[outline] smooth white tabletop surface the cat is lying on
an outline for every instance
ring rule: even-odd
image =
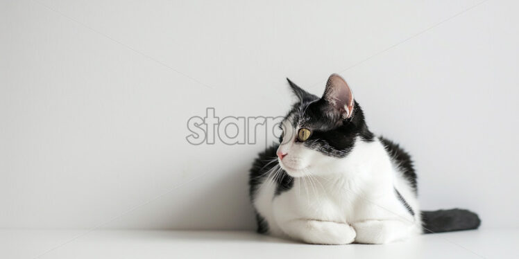
[[[3,230],[0,258],[518,258],[518,242],[518,229],[343,246],[300,244],[244,231]]]

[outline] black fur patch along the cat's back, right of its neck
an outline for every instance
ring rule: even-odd
[[[393,159],[393,163],[400,168],[402,174],[405,179],[409,182],[411,187],[414,190],[414,194],[416,195],[416,172],[414,172],[413,161],[411,160],[411,156],[405,152],[400,145],[393,143],[389,139],[385,139],[384,137],[379,137],[380,141],[386,148],[386,152],[389,154],[389,157]]]

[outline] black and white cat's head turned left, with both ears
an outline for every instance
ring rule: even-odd
[[[289,175],[326,175],[356,141],[373,140],[361,107],[341,76],[330,75],[321,98],[288,81],[298,102],[280,125],[283,133],[277,154]]]

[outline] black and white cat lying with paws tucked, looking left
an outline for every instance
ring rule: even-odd
[[[384,244],[477,229],[470,211],[420,211],[409,154],[368,130],[352,91],[330,75],[323,97],[300,89],[280,144],[250,170],[257,231],[312,244]]]

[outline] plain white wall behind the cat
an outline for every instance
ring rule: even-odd
[[[189,145],[187,120],[283,115],[285,77],[330,73],[423,208],[519,226],[519,4],[479,2],[1,0],[0,227],[253,229],[264,145]]]

